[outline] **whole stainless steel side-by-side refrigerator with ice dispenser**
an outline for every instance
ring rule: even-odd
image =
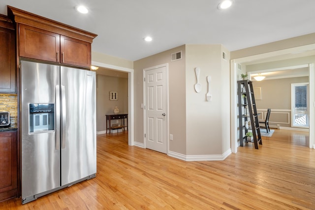
[[[95,72],[22,60],[22,204],[96,174]]]

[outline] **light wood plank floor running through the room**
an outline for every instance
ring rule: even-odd
[[[224,161],[186,162],[128,146],[127,132],[98,135],[96,178],[0,209],[315,210],[308,133],[276,130],[262,139],[259,150],[249,143]]]

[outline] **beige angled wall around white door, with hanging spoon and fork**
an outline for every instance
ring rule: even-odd
[[[227,60],[222,60],[222,51]],[[183,59],[170,61],[182,51]],[[230,149],[229,52],[221,45],[184,45],[134,62],[135,141],[143,143],[143,69],[169,64],[169,150],[183,155],[221,155]],[[194,90],[200,67],[201,92]],[[211,76],[213,101],[206,101]],[[139,125],[139,126],[137,126]]]

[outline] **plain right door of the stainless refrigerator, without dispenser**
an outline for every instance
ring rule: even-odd
[[[96,173],[95,72],[61,66],[62,184]]]

